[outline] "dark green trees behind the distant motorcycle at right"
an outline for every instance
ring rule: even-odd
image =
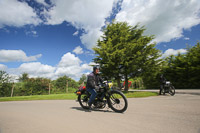
[[[187,53],[171,55],[163,59],[158,69],[142,76],[146,88],[158,88],[163,74],[178,89],[200,89],[200,43],[187,47]],[[154,70],[154,71],[153,71]]]

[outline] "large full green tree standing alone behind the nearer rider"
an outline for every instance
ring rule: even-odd
[[[99,63],[103,75],[125,77],[125,90],[128,90],[128,79],[150,71],[159,65],[160,51],[151,43],[153,36],[144,36],[144,27],[134,27],[126,22],[113,22],[104,29],[104,35],[93,48],[94,62]]]

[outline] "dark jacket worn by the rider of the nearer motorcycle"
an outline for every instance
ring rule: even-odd
[[[90,73],[87,76],[87,84],[86,84],[86,88],[92,88],[95,89],[95,86],[98,86],[99,83],[102,83],[103,80],[101,79],[99,74],[94,74],[94,72]]]

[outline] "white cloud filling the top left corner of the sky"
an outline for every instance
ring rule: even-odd
[[[0,28],[7,26],[21,27],[27,24],[38,25],[42,20],[26,2],[0,0]]]

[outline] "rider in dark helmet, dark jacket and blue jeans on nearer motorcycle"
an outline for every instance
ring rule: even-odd
[[[94,99],[97,96],[97,90],[99,89],[99,83],[102,83],[102,79],[99,76],[99,67],[94,66],[93,72],[88,75],[86,89],[88,92],[91,93],[90,100],[88,102],[89,108],[91,108],[92,103],[94,102]]]

